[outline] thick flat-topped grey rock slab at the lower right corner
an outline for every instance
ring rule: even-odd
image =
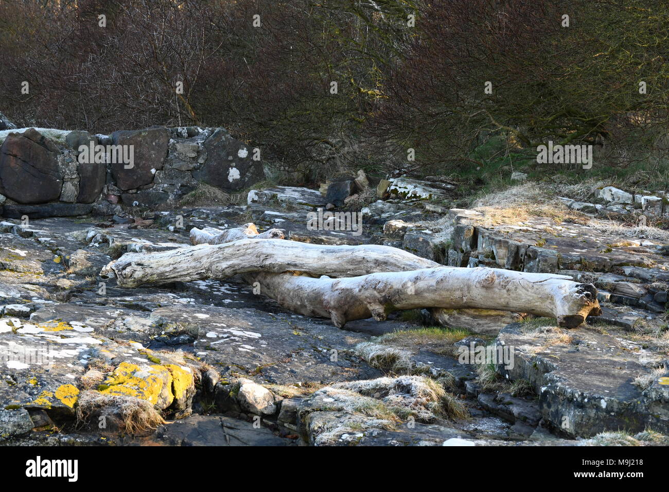
[[[609,329],[609,332],[614,331]],[[630,341],[583,326],[569,331],[571,343],[556,341],[556,333],[524,330],[521,323],[508,325],[497,343],[514,347],[514,365],[498,371],[510,380],[528,380],[539,394],[543,417],[575,436],[647,427],[666,434],[669,430],[669,385],[657,378],[648,390],[633,384],[648,374],[644,358],[658,352]],[[656,347],[657,348],[657,347]]]

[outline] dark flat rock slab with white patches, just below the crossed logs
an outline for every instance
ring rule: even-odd
[[[351,353],[365,335],[336,329],[324,320],[206,305],[159,308],[151,317],[183,330],[197,327],[195,355],[223,376],[290,385],[380,374]]]

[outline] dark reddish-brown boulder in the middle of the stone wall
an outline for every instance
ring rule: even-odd
[[[116,186],[128,190],[153,183],[156,171],[163,169],[170,139],[169,130],[150,128],[116,131],[112,133],[112,139],[114,145],[132,145],[134,151],[132,168],[126,169],[124,163],[110,164]]]

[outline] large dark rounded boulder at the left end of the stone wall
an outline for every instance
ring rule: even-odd
[[[45,203],[60,197],[63,175],[58,147],[37,130],[10,133],[0,148],[0,193],[18,203]]]

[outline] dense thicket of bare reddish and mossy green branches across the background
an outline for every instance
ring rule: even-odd
[[[623,162],[666,145],[668,37],[665,0],[0,0],[0,110],[103,133],[224,126],[304,180],[447,173],[493,137]]]

